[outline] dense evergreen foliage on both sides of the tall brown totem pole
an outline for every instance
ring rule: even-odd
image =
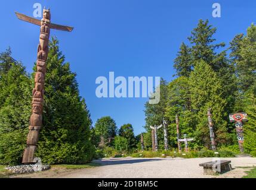
[[[34,80],[11,58],[10,50],[0,55],[0,65],[0,163],[18,164],[26,146]],[[69,63],[64,63],[58,41],[52,39],[45,77],[43,128],[36,151],[44,163],[86,163],[94,154],[90,113],[79,96],[75,77]]]

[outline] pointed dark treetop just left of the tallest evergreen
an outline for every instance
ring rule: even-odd
[[[180,51],[177,54],[177,58],[174,60],[174,68],[177,71],[176,75],[179,77],[189,77],[192,71],[192,56],[189,46],[186,46],[185,43],[181,43]]]

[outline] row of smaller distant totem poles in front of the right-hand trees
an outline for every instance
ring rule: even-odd
[[[208,126],[209,126],[209,136],[211,140],[211,149],[216,150],[216,142],[215,142],[215,136],[214,136],[214,124],[212,121],[212,115],[211,115],[211,108],[207,111],[207,118],[208,118]],[[230,122],[235,122],[236,126],[236,134],[238,138],[238,144],[240,152],[243,153],[243,122],[248,121],[247,114],[246,113],[230,113],[229,115]],[[179,120],[178,115],[175,116],[175,122],[176,122],[176,129],[177,129],[177,144],[178,144],[178,151],[181,152],[181,143],[183,142],[185,144],[185,151],[186,153],[189,151],[188,142],[193,141],[194,138],[187,138],[187,135],[184,134],[184,138],[180,138],[180,130],[179,130]],[[164,120],[163,124],[157,126],[150,126],[152,129],[152,151],[158,151],[158,129],[160,129],[162,126],[164,126],[164,145],[165,145],[165,151],[167,151],[168,148],[168,134],[167,134],[167,123]],[[141,150],[144,151],[144,137],[143,134],[141,134]]]

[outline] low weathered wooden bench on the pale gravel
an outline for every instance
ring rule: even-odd
[[[230,160],[214,160],[212,162],[201,163],[199,166],[203,166],[203,173],[215,174],[232,170],[230,163]]]

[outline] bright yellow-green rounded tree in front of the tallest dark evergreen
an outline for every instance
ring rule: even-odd
[[[229,142],[227,133],[227,113],[224,112],[226,100],[223,98],[223,87],[211,66],[204,61],[198,62],[190,77],[190,92],[193,112],[196,113],[196,141],[210,147],[207,109],[212,108],[215,140],[219,145]]]

